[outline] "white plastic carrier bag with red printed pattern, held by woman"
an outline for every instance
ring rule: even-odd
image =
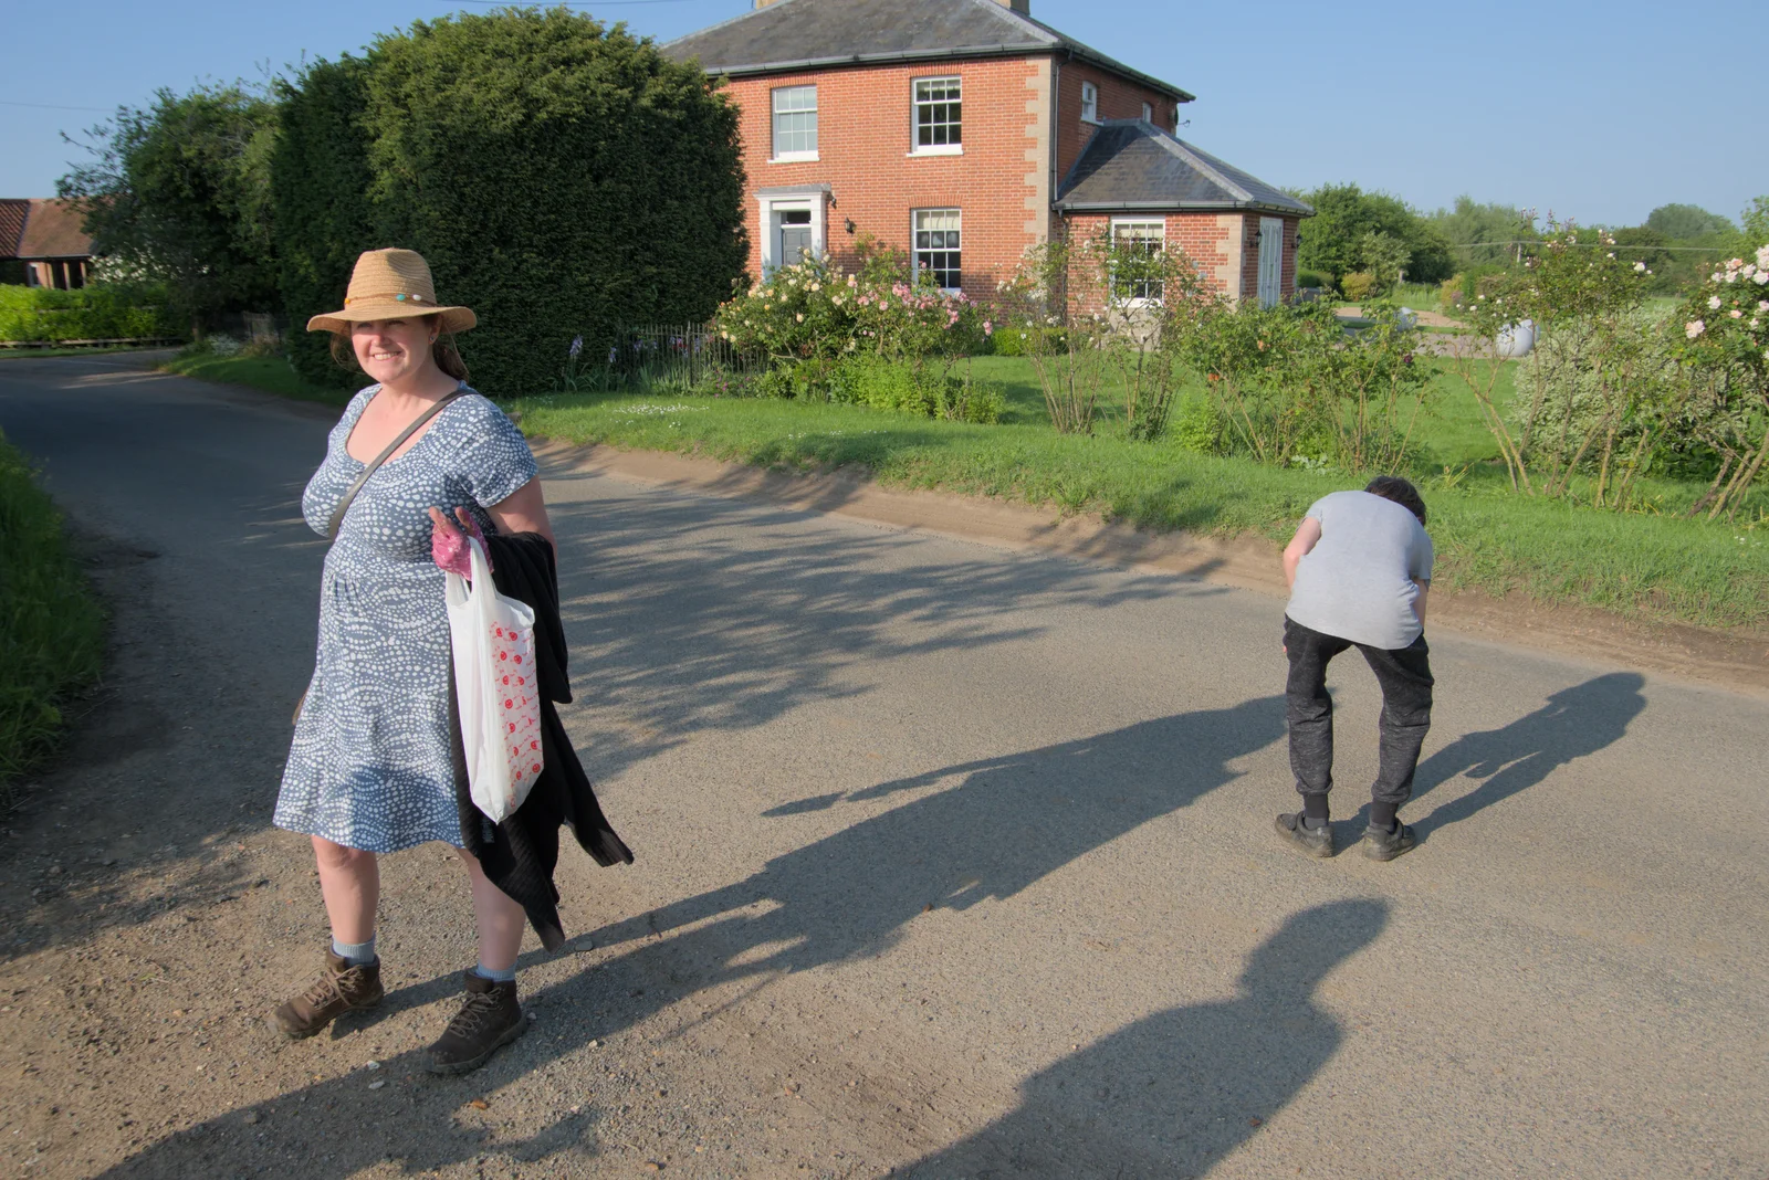
[[[534,668],[534,611],[492,583],[485,546],[472,546],[472,585],[448,574],[455,701],[474,806],[502,823],[541,774],[541,694]]]

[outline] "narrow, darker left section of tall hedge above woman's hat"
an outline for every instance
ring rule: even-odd
[[[368,132],[363,110],[373,58],[343,57],[310,65],[280,87],[283,124],[271,155],[276,253],[288,314],[288,360],[320,385],[352,374],[331,359],[331,337],[308,332],[308,318],[336,311],[350,267],[382,246],[368,200]]]

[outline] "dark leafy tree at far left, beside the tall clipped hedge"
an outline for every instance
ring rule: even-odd
[[[92,161],[58,191],[85,212],[96,254],[166,283],[195,332],[276,306],[269,152],[276,104],[241,83],[159,90],[88,132]]]

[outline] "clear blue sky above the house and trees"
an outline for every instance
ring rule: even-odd
[[[803,0],[816,4],[816,0]],[[1031,0],[1033,16],[1198,95],[1180,136],[1283,185],[1355,180],[1636,224],[1666,201],[1737,217],[1769,193],[1769,2],[1486,5]],[[64,0],[9,5],[0,196],[48,196],[78,131],[157,87],[262,78],[488,5]],[[667,41],[748,0],[573,5]],[[41,110],[19,102],[81,110]]]

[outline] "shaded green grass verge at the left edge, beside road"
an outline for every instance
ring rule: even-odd
[[[0,435],[0,813],[55,747],[62,708],[97,680],[104,611],[67,549],[62,516]]]

